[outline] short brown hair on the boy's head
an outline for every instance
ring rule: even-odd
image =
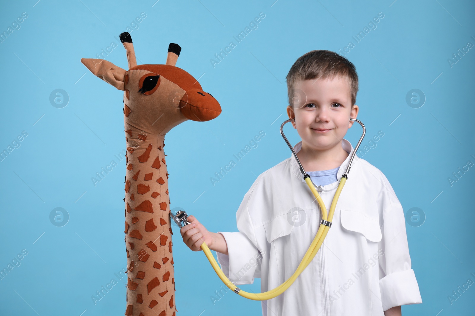
[[[297,81],[317,78],[333,79],[335,76],[348,79],[353,106],[358,92],[358,74],[353,63],[346,57],[327,50],[314,50],[300,56],[286,77],[289,105],[294,107],[292,99]]]

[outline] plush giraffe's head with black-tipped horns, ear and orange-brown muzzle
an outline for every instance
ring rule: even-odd
[[[188,119],[209,121],[221,113],[218,101],[175,66],[179,45],[169,45],[165,64],[137,65],[130,34],[124,32],[120,39],[127,51],[128,71],[104,59],[82,58],[81,62],[97,77],[124,90],[123,112],[129,126],[165,135]]]

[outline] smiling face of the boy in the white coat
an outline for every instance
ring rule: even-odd
[[[328,150],[341,144],[354,123],[350,117],[358,115],[346,78],[297,81],[293,104],[293,108],[287,107],[287,114],[295,117],[292,125],[302,138],[302,147],[310,150]]]

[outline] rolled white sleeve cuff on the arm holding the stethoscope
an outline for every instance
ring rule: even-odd
[[[235,285],[254,283],[260,253],[249,238],[240,232],[218,232],[228,245],[228,255],[216,253],[221,270]]]

